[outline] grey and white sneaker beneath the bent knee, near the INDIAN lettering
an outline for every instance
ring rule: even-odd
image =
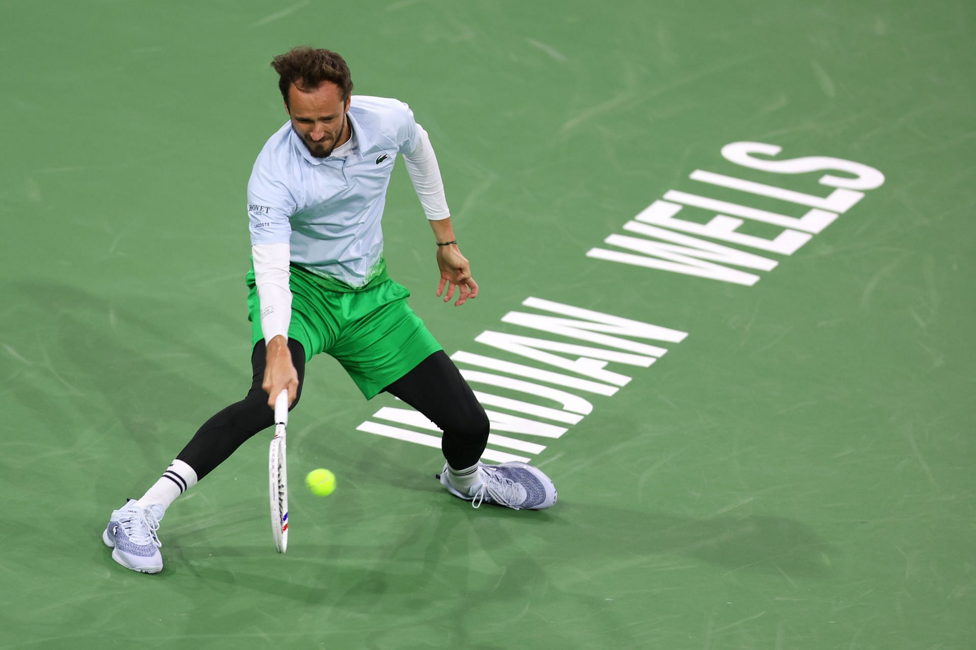
[[[471,502],[474,508],[495,504],[516,510],[541,510],[555,503],[555,486],[539,467],[516,462],[481,465],[478,475],[481,480],[470,487],[468,494],[451,485],[446,464],[437,478],[448,492]]]

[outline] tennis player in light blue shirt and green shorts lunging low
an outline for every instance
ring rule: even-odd
[[[464,305],[478,294],[458,247],[427,132],[397,100],[352,96],[346,61],[295,48],[275,57],[289,121],[258,155],[248,183],[251,256],[247,275],[254,377],[247,396],[208,420],[138,500],[112,511],[102,540],[119,564],[162,569],[157,530],[166,508],[273,424],[274,397],[291,408],[305,363],[335,357],[367,399],[386,391],[443,430],[443,487],[477,508],[549,508],[552,481],[521,463],[488,466],[484,409],[447,354],[390,279],[381,219],[398,154],[433,230],[437,296]]]

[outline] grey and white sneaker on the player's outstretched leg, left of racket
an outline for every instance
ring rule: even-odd
[[[156,531],[163,518],[162,506],[140,508],[130,499],[122,508],[112,511],[108,526],[102,532],[102,542],[112,548],[112,559],[133,571],[159,573],[163,556]]]

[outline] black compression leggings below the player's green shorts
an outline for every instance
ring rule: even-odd
[[[289,340],[288,349],[299,375],[298,397],[291,407],[294,409],[305,386],[305,349],[295,340]],[[261,387],[264,355],[264,341],[259,341],[251,353],[254,377],[247,396],[208,420],[177,456],[193,467],[198,479],[227,460],[248,438],[274,424],[274,411],[268,407],[267,393]],[[444,431],[441,449],[451,467],[471,467],[481,458],[488,442],[488,417],[443,351],[434,352],[384,390],[413,406]]]

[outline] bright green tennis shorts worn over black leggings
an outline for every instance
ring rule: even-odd
[[[254,268],[247,274],[251,345],[264,339]],[[366,399],[443,349],[407,305],[410,292],[386,273],[353,291],[292,264],[288,337],[305,347],[305,361],[326,352],[343,364]]]

